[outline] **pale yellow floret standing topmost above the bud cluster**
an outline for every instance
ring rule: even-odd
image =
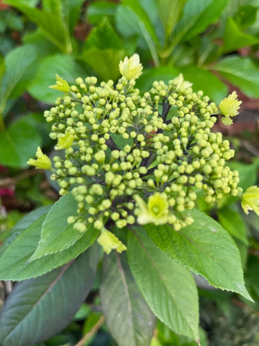
[[[126,56],[124,61],[119,63],[119,72],[127,80],[138,78],[142,74],[142,69],[143,66],[138,54],[133,54],[130,58]]]

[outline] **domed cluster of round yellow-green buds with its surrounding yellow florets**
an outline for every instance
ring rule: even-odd
[[[207,203],[242,193],[238,172],[225,166],[234,151],[221,133],[211,131],[219,114],[215,103],[202,91],[193,92],[181,74],[168,84],[155,81],[140,95],[137,54],[119,69],[117,84],[97,85],[96,77],[87,77],[69,86],[56,75],[50,88],[65,95],[44,116],[54,122],[50,137],[65,155],[54,157],[55,169],[40,148],[37,160],[28,162],[54,171],[51,179],[61,195],[72,191],[78,216],[68,217],[68,223],[79,232],[92,223],[107,253],[126,249],[107,229],[111,222],[117,228],[167,223],[179,231],[193,222],[184,211],[194,208],[198,191],[205,192]],[[238,113],[236,98],[234,92],[220,103],[224,124]]]

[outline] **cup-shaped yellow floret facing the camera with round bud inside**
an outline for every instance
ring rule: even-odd
[[[155,225],[163,225],[167,222],[169,210],[167,198],[164,194],[155,192],[153,195],[148,197],[147,204],[139,195],[135,195],[134,199],[140,209],[137,217],[137,222],[140,225],[151,223]]]

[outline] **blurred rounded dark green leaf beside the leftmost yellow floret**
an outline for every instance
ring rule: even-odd
[[[0,132],[0,163],[8,167],[24,168],[30,157],[35,157],[41,136],[37,130],[23,119],[14,122]]]

